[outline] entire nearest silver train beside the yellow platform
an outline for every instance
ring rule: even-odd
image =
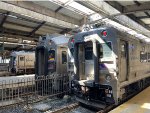
[[[150,44],[108,26],[74,37],[72,86],[79,102],[106,109],[150,85]]]

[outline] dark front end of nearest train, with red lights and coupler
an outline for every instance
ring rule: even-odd
[[[98,109],[115,104],[115,37],[113,29],[107,27],[75,35],[75,79],[72,87],[79,102]]]

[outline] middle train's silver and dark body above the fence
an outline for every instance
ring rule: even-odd
[[[43,36],[36,47],[36,76],[67,73],[68,40],[66,36]]]

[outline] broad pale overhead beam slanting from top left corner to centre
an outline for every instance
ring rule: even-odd
[[[40,6],[31,1],[0,2],[0,6],[2,6],[0,9],[6,11],[9,10],[20,15],[31,17],[40,21],[46,21],[58,26],[74,28],[75,25],[80,25],[80,21],[75,18],[56,13],[49,8]]]

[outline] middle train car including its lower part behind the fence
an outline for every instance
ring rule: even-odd
[[[43,36],[39,40],[36,47],[36,72],[35,77],[52,77],[55,80],[46,84],[46,82],[38,82],[38,91],[48,89],[53,86],[53,90],[63,92],[66,90],[63,85],[69,83],[67,74],[67,52],[69,37],[61,36]],[[43,88],[47,87],[47,88]],[[45,90],[43,92],[49,92]],[[56,92],[56,91],[55,91]]]

